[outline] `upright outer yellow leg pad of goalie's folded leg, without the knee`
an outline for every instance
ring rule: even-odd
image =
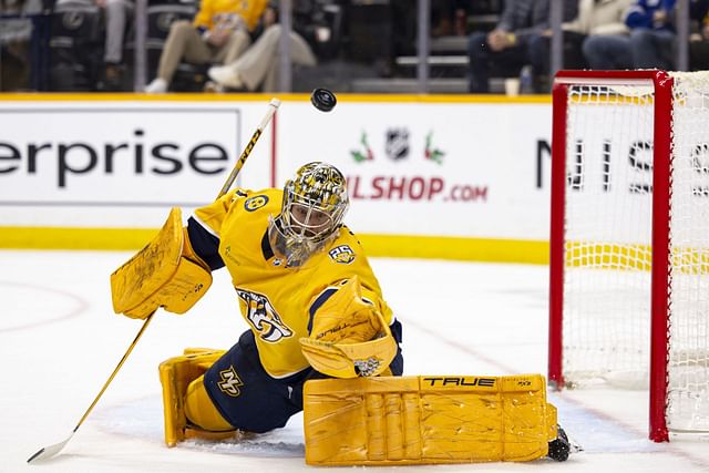
[[[188,425],[185,414],[187,388],[224,353],[224,350],[187,348],[185,354],[174,357],[160,364],[160,381],[163,385],[163,411],[165,418],[165,443],[175,446],[189,436],[201,436],[199,429]],[[196,398],[195,398],[196,399]],[[191,403],[198,402],[189,400]],[[226,421],[225,421],[226,422]],[[205,428],[207,428],[205,425]]]

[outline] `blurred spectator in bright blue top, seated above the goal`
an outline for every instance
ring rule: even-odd
[[[635,69],[672,69],[675,0],[636,0],[628,9]]]

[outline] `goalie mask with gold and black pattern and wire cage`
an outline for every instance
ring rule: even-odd
[[[284,187],[280,215],[271,218],[271,247],[286,266],[301,266],[337,235],[349,206],[345,176],[325,163],[301,166]]]

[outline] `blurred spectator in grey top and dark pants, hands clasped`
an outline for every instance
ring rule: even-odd
[[[565,21],[577,12],[577,0],[563,0]],[[514,69],[518,73],[525,64],[532,65],[535,81],[548,76],[549,0],[507,0],[501,20],[491,32],[474,32],[469,39],[469,91],[490,91],[491,65]],[[535,89],[541,89],[537,82]]]

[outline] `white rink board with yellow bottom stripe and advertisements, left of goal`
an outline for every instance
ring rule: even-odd
[[[216,197],[269,99],[0,95],[0,247],[140,247],[169,207]],[[374,254],[545,263],[547,96],[340,94],[331,113],[279,99],[237,185],[327,161]]]

